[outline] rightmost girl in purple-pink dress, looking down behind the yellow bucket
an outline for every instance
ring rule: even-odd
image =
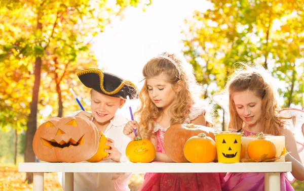
[[[304,167],[297,152],[293,133],[284,126],[279,114],[276,91],[270,76],[261,66],[255,68],[243,64],[230,77],[226,85],[229,92],[230,127],[242,129],[246,136],[263,132],[284,135],[286,150],[290,152],[285,161],[292,162],[292,175],[304,180]],[[281,190],[294,190],[281,173]],[[222,190],[264,190],[264,173],[227,173]]]

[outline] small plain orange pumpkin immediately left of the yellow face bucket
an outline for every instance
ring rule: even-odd
[[[200,133],[186,141],[183,152],[189,162],[209,163],[216,157],[216,144],[205,133]]]

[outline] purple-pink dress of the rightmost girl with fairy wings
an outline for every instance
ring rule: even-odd
[[[244,130],[246,136],[254,134]],[[264,190],[264,173],[247,172],[247,173],[227,173],[224,177],[223,191],[259,191]],[[281,173],[281,191],[291,191],[293,187]]]

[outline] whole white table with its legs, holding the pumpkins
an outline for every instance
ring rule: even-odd
[[[44,172],[65,173],[65,191],[73,190],[74,172],[264,172],[265,191],[280,190],[280,173],[291,162],[267,163],[19,163],[19,172],[33,172],[34,191],[44,189]]]

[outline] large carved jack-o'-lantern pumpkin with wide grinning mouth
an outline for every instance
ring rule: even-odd
[[[36,130],[33,151],[47,162],[81,162],[90,159],[99,144],[98,129],[83,117],[52,118]]]

